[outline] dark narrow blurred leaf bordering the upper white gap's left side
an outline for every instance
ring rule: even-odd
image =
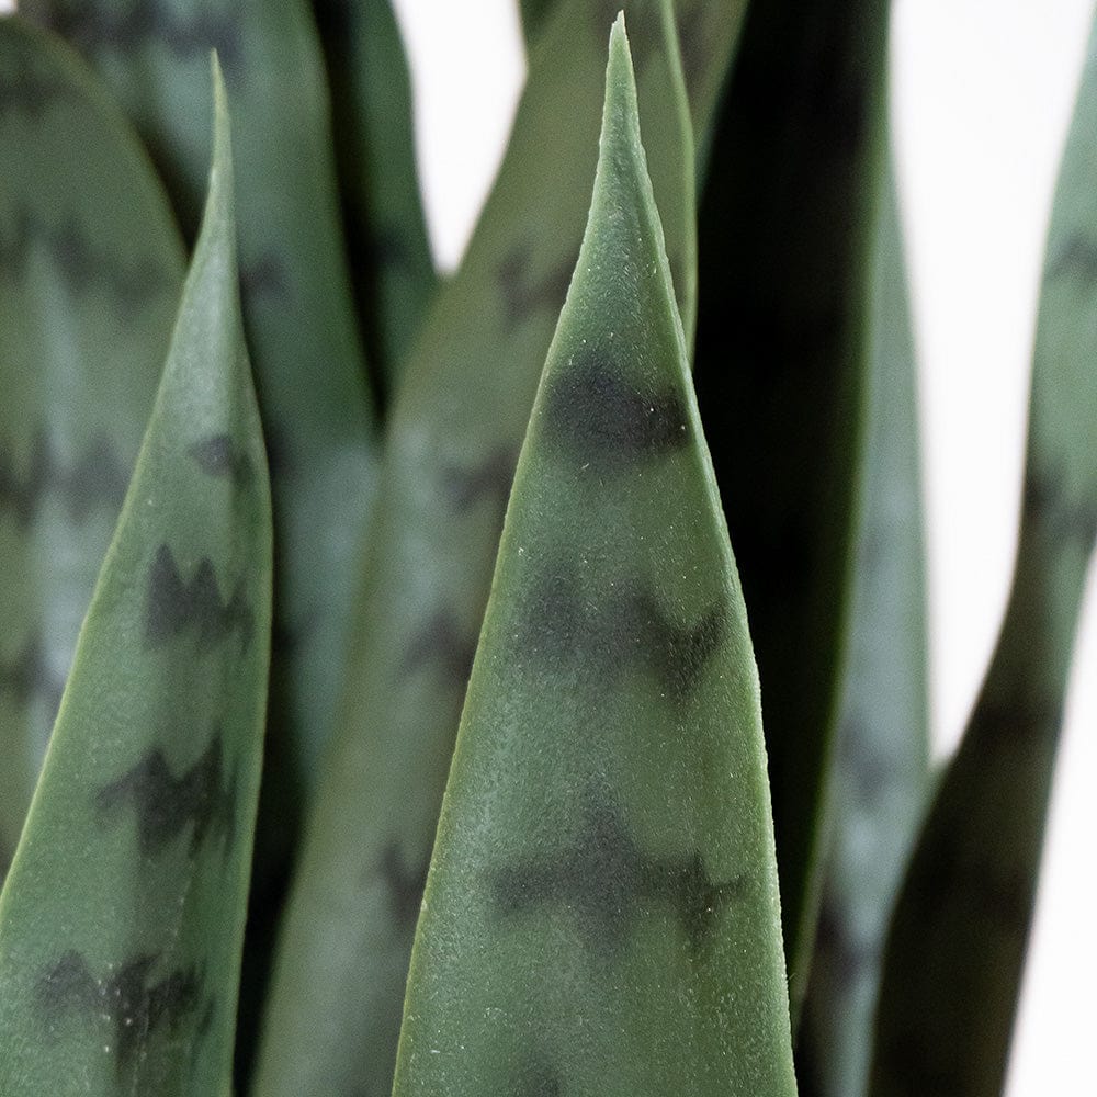
[[[411,80],[391,0],[313,0],[331,84],[343,223],[370,367],[392,392],[438,286]]]

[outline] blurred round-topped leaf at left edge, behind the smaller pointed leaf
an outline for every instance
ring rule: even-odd
[[[0,880],[163,366],[183,246],[91,73],[0,20]]]

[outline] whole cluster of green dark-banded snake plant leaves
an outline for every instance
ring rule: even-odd
[[[388,0],[0,21],[5,1097],[1000,1090],[1097,536],[1097,44],[935,780],[886,0],[522,14],[445,282]]]

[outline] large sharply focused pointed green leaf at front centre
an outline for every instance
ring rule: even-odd
[[[758,679],[619,19],[395,1097],[795,1093]]]

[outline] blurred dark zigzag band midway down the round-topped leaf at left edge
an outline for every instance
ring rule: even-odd
[[[15,516],[25,529],[45,499],[56,494],[73,522],[82,523],[92,511],[117,511],[125,498],[129,473],[105,434],[97,434],[71,465],[55,453],[44,429],[34,433],[30,465],[20,474],[12,446],[0,446],[0,516]]]

